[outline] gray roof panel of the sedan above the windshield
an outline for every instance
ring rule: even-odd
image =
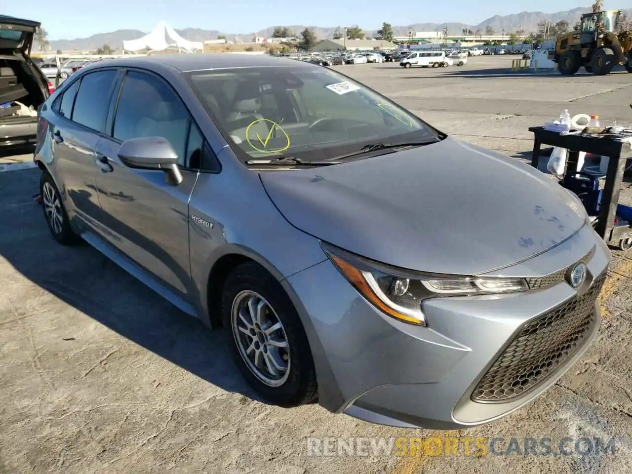
[[[180,72],[204,71],[212,69],[260,68],[270,66],[301,66],[301,61],[290,58],[279,58],[267,54],[155,54],[154,56],[135,56],[116,58],[106,61],[104,66],[128,66],[149,68],[170,66]],[[304,67],[310,67],[305,65]]]

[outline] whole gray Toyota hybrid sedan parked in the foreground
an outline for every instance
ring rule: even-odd
[[[532,401],[599,329],[611,255],[578,198],[335,71],[112,59],[39,120],[54,239],[223,325],[272,403],[467,428]]]

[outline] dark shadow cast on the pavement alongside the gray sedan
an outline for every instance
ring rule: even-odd
[[[39,176],[36,169],[0,174],[0,220],[11,222],[0,234],[0,257],[33,284],[139,346],[225,391],[265,403],[234,365],[226,331],[211,331],[92,247],[64,247],[52,239],[42,208],[31,199]],[[15,303],[19,308],[21,302]]]

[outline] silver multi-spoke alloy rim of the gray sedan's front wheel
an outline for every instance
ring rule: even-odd
[[[254,291],[241,291],[233,300],[231,326],[250,372],[267,386],[283,385],[290,370],[289,343],[270,303]]]

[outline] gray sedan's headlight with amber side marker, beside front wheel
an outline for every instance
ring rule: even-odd
[[[445,296],[492,295],[526,291],[521,278],[427,274],[399,269],[321,243],[329,259],[372,305],[387,315],[425,326],[422,302]]]

